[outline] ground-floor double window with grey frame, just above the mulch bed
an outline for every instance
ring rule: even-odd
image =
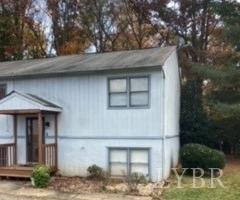
[[[149,176],[149,149],[109,148],[109,171],[112,176]]]

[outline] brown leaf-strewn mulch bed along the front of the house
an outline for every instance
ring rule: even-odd
[[[67,193],[118,193],[135,196],[160,196],[164,182],[136,185],[135,190],[123,180],[92,180],[81,177],[53,177],[48,189]]]

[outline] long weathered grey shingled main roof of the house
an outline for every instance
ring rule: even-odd
[[[163,66],[175,46],[0,62],[0,79]]]

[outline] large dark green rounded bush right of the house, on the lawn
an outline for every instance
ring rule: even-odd
[[[223,169],[226,164],[222,152],[200,144],[184,145],[180,157],[183,168],[202,168],[209,171],[209,168]]]

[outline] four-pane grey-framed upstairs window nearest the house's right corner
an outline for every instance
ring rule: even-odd
[[[149,106],[149,77],[110,78],[108,80],[110,108]]]

